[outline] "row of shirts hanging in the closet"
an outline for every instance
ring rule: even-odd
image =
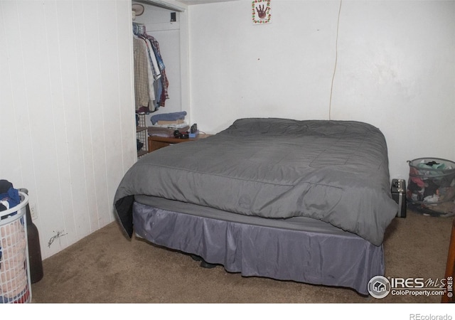
[[[133,23],[134,93],[137,112],[155,112],[164,107],[169,82],[159,43],[146,33],[145,26]]]

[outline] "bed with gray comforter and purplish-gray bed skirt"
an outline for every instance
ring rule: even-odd
[[[385,137],[354,121],[237,119],[142,157],[114,196],[130,238],[245,277],[363,295],[384,274],[397,210]]]

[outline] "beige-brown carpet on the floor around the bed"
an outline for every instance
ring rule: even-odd
[[[395,218],[385,239],[388,277],[444,277],[451,221],[419,213]],[[43,261],[34,303],[439,303],[440,297],[363,297],[351,289],[260,277],[221,266],[204,269],[188,255],[124,238],[111,223]]]

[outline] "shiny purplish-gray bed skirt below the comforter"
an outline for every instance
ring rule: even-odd
[[[343,230],[275,228],[137,202],[133,220],[140,238],[199,255],[206,262],[223,265],[228,272],[240,272],[245,277],[347,287],[368,295],[369,280],[384,274],[382,245],[373,245]]]

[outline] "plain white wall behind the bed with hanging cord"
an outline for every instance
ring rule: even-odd
[[[272,23],[251,18],[250,0],[189,7],[201,130],[240,117],[353,119],[385,134],[392,178],[407,179],[407,160],[455,161],[455,1],[273,0]]]

